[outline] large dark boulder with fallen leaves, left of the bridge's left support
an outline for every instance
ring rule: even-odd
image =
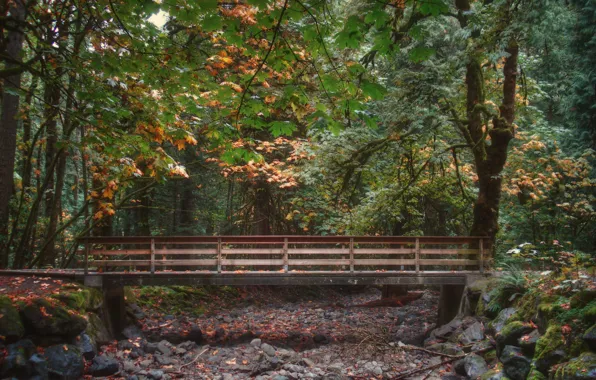
[[[61,306],[52,306],[47,300],[37,298],[21,310],[25,325],[41,336],[58,335],[74,338],[87,327],[87,320],[71,314]]]

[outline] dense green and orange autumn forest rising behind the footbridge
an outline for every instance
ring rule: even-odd
[[[72,266],[88,235],[596,250],[593,0],[2,0],[0,13],[0,267]]]

